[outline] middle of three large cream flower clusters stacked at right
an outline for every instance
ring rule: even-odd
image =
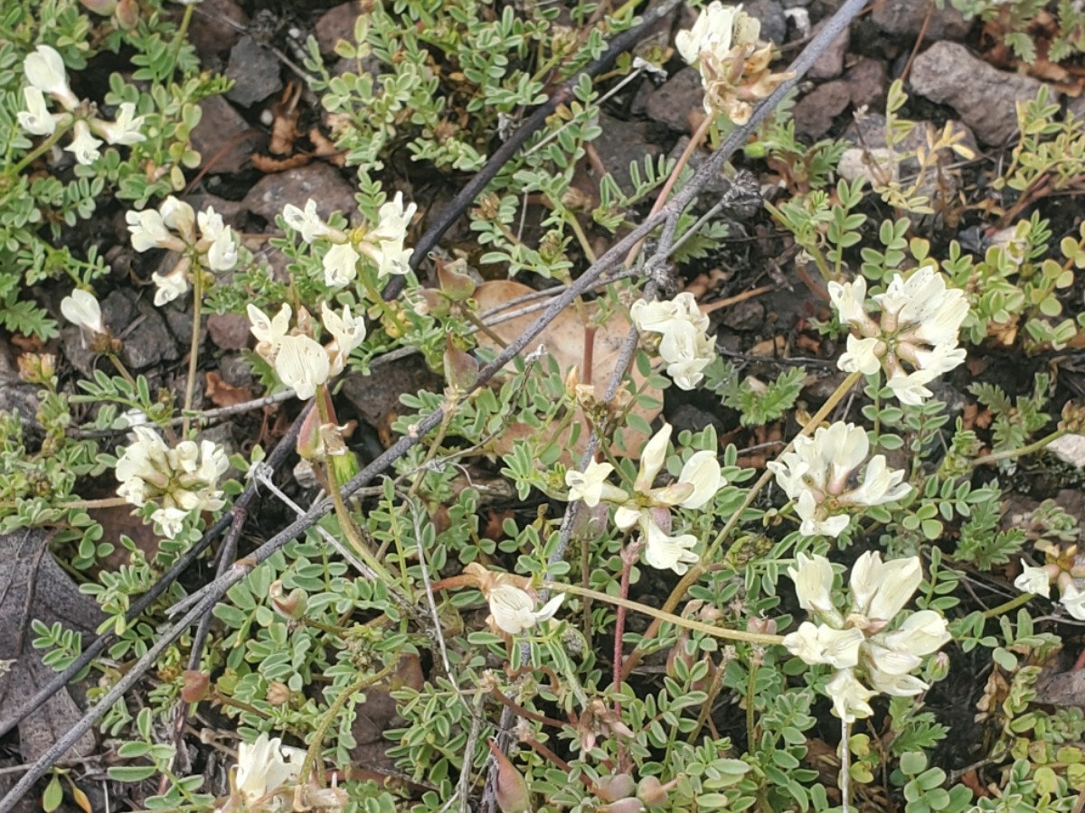
[[[860,482],[851,485],[852,474],[869,451],[865,429],[838,421],[819,427],[813,438],[795,438],[794,451],[768,464],[780,488],[795,501],[803,520],[800,533],[839,537],[856,507],[882,505],[908,494],[911,486],[903,481],[905,473],[891,470],[882,454],[870,459]]]

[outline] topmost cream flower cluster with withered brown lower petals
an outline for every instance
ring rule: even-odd
[[[773,47],[757,41],[761,23],[741,5],[712,2],[693,27],[678,31],[675,47],[701,72],[704,109],[710,116],[726,113],[737,125],[750,120],[753,102],[764,99],[791,74],[768,69]]]

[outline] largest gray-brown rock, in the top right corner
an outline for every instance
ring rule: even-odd
[[[1017,103],[1035,96],[1039,86],[1030,76],[992,67],[955,42],[935,42],[911,68],[912,90],[948,104],[985,144],[1004,144],[1013,137]],[[1051,89],[1051,98],[1058,96]]]

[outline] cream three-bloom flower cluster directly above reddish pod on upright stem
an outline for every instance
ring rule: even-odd
[[[301,325],[308,325],[309,314],[298,314],[299,327],[291,331],[289,305],[282,306],[273,319],[257,308],[248,306],[248,321],[256,337],[256,352],[271,364],[279,379],[293,389],[302,400],[312,398],[317,387],[343,372],[347,357],[366,339],[366,322],[350,315],[348,307],[342,315],[321,304],[321,321],[331,334],[331,340],[320,345]]]

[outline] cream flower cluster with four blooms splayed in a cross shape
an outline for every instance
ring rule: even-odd
[[[637,526],[644,544],[644,560],[660,570],[685,573],[690,565],[700,560],[692,551],[697,537],[671,532],[671,508],[701,508],[726,485],[719,470],[719,461],[710,451],[695,452],[682,466],[678,480],[669,486],[652,488],[655,476],[663,468],[671,440],[671,426],[664,424],[644,446],[640,455],[640,469],[633,483],[633,494],[611,485],[607,478],[614,470],[610,463],[592,461],[584,472],[565,473],[569,499],[582,500],[588,507],[600,501],[616,506],[614,525],[622,530]]]

